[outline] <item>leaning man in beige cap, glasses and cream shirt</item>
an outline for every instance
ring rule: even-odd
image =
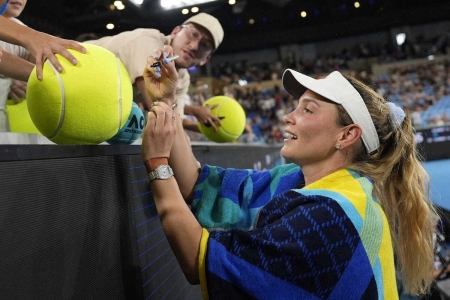
[[[199,13],[182,25],[176,26],[170,35],[164,35],[157,29],[138,28],[114,36],[86,41],[86,43],[102,46],[120,58],[134,86],[134,101],[144,110],[150,109],[152,101],[145,88],[142,66],[149,56],[154,55],[154,49],[171,45],[174,55],[180,56],[175,60],[178,70],[178,111],[182,116],[194,115],[199,122],[210,124],[217,130],[216,124],[220,125],[220,119],[211,114],[213,106],[185,106],[183,99],[190,85],[187,69],[204,65],[219,47],[223,36],[222,25],[216,18],[206,13]],[[185,129],[199,132],[196,121],[184,117],[183,120]]]

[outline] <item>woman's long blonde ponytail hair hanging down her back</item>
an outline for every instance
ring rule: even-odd
[[[374,196],[389,222],[397,270],[404,290],[426,293],[433,281],[433,214],[429,178],[417,151],[411,118],[406,115],[396,129],[386,100],[362,82],[345,76],[363,98],[380,139],[378,152],[369,156],[361,150],[349,168],[373,179]],[[338,105],[339,123],[353,123]]]

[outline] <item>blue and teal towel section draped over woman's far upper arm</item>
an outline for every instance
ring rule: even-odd
[[[205,165],[195,186],[191,209],[208,230],[251,229],[261,207],[302,179],[295,164],[266,171]]]

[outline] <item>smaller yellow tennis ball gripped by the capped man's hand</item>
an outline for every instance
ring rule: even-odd
[[[203,106],[218,104],[211,109],[211,114],[218,117],[222,126],[214,131],[211,125],[198,123],[200,132],[210,141],[216,143],[233,142],[244,132],[246,116],[242,106],[233,98],[227,96],[216,96],[208,99]]]

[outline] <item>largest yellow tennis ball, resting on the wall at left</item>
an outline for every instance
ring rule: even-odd
[[[130,115],[133,89],[122,62],[105,48],[83,46],[86,54],[69,49],[77,65],[56,55],[62,73],[47,60],[42,81],[36,68],[28,79],[31,119],[56,144],[99,144],[114,136]]]

